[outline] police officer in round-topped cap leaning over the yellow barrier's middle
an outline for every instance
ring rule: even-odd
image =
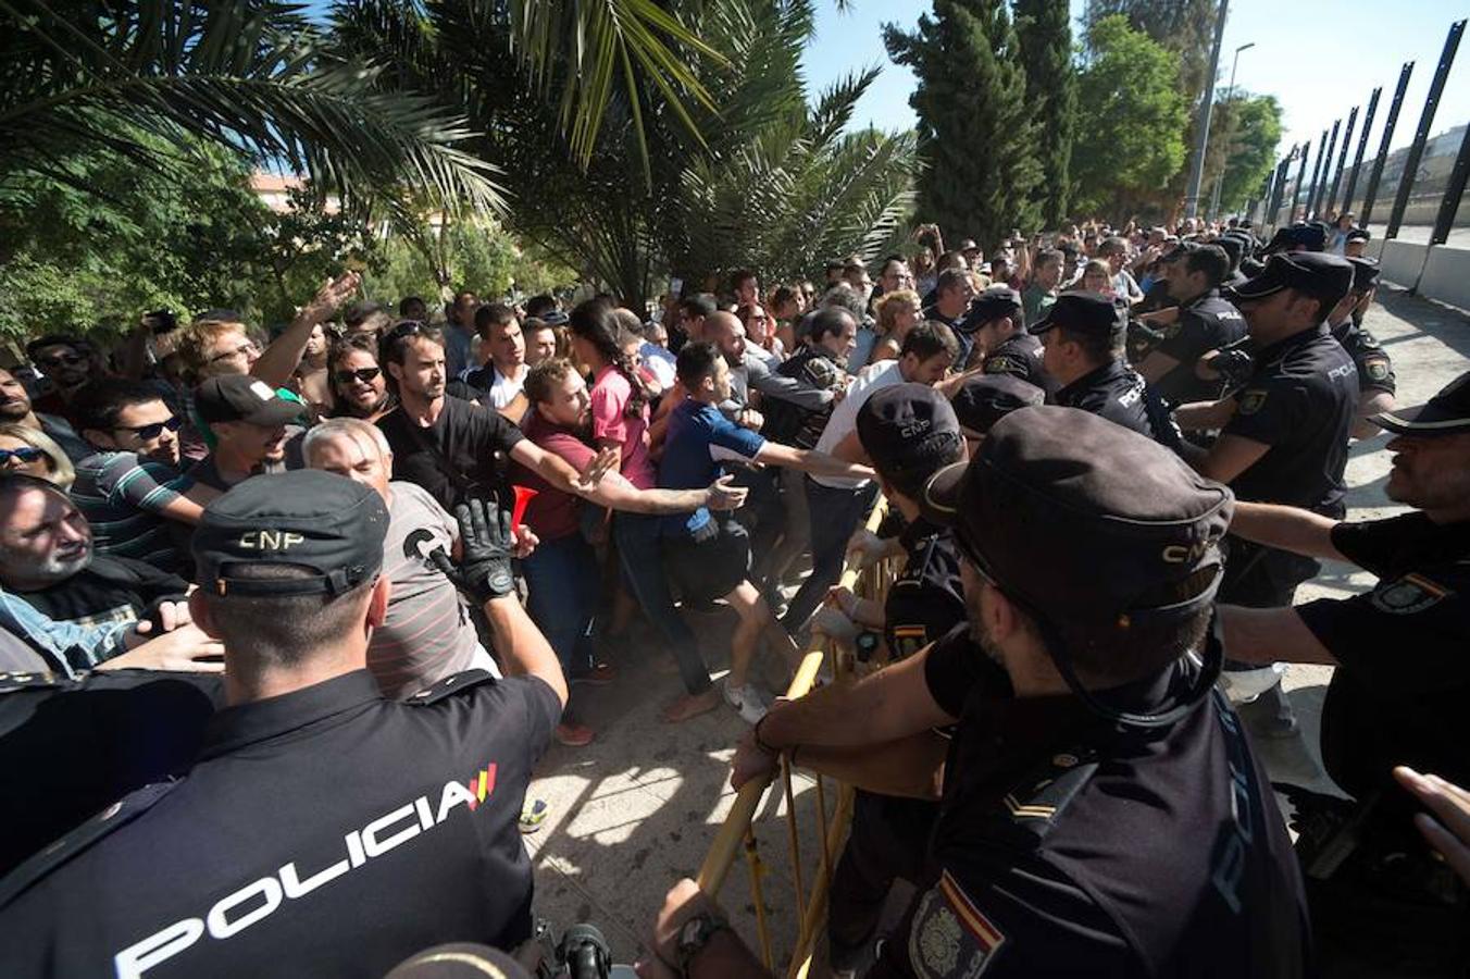
[[[833,588],[835,609],[823,612],[841,610],[854,628],[867,629],[856,635],[858,659],[870,659],[875,631],[881,631],[888,661],[898,661],[964,622],[954,532],[932,523],[919,506],[931,476],[964,459],[964,441],[950,403],[926,384],[898,384],[873,394],[858,412],[857,435],[883,494],[903,516],[898,544],[904,567],[882,604]],[[756,738],[759,732],[757,725]],[[938,761],[944,741],[935,734],[931,742]],[[882,789],[882,782],[875,788]],[[833,969],[861,964],[861,950],[878,926],[894,879],[922,878],[925,844],[936,816],[932,798],[857,791],[847,848],[832,878],[828,944]]]

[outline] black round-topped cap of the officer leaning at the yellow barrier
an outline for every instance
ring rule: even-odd
[[[875,391],[857,412],[857,440],[888,478],[926,479],[963,444],[950,400],[928,384],[894,384]]]

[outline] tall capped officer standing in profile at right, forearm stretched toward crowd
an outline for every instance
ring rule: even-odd
[[[1352,266],[1332,254],[1273,254],[1261,275],[1235,290],[1254,347],[1247,384],[1222,401],[1175,413],[1185,429],[1220,428],[1208,448],[1183,447],[1195,467],[1252,503],[1285,503],[1341,519],[1348,432],[1358,403],[1352,359],[1327,331],[1327,315],[1352,285]],[[1289,606],[1320,564],[1236,541],[1220,600],[1252,609]],[[1297,729],[1274,669],[1227,666],[1230,694],[1260,700],[1250,714],[1269,735]]]

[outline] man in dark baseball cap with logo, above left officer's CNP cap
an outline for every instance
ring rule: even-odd
[[[290,425],[301,406],[265,381],[247,373],[210,378],[194,392],[194,407],[219,440],[213,454],[190,467],[194,482],[225,492],[254,475],[301,467],[301,429]]]

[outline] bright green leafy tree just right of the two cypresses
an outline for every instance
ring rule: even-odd
[[[1075,210],[1161,207],[1185,163],[1185,128],[1179,57],[1123,16],[1094,22],[1078,82]]]

